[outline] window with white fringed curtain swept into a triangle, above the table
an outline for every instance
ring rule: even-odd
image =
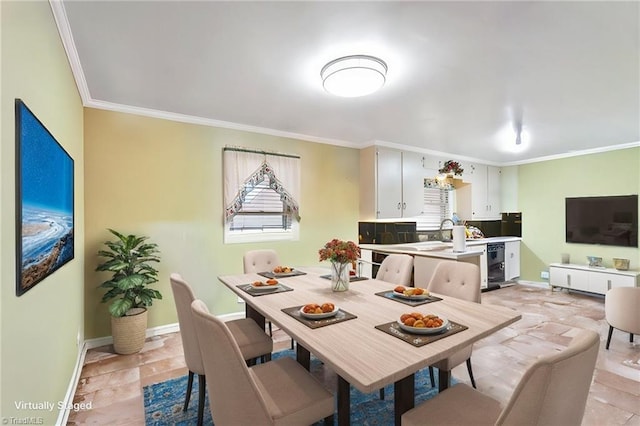
[[[225,243],[297,240],[300,157],[226,147]]]

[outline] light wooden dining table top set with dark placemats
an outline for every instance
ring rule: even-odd
[[[265,281],[263,276],[240,274],[218,279],[252,309],[277,324],[326,366],[365,393],[414,374],[521,318],[518,312],[508,308],[438,294],[434,295],[441,297],[441,301],[409,306],[376,295],[393,290],[395,285],[375,279],[352,282],[349,290],[333,292],[330,280],[320,277],[322,269],[300,270],[306,274],[278,279],[292,291],[259,296],[248,294],[238,286]],[[283,312],[294,306],[325,302],[335,304],[356,318],[312,329]],[[410,312],[435,314],[468,328],[420,347],[375,328],[397,321],[402,314]]]

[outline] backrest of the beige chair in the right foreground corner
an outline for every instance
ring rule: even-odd
[[[580,425],[598,357],[600,336],[580,330],[569,347],[531,365],[497,425]]]

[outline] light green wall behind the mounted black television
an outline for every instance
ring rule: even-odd
[[[614,257],[640,267],[638,248],[567,244],[565,198],[629,195],[640,192],[640,148],[582,155],[519,166],[518,204],[522,210],[521,278],[542,281],[540,272],[569,253],[571,263],[587,264],[600,256],[612,267]]]

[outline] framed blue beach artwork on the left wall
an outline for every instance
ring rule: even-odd
[[[20,99],[16,115],[16,295],[74,257],[73,158]]]

